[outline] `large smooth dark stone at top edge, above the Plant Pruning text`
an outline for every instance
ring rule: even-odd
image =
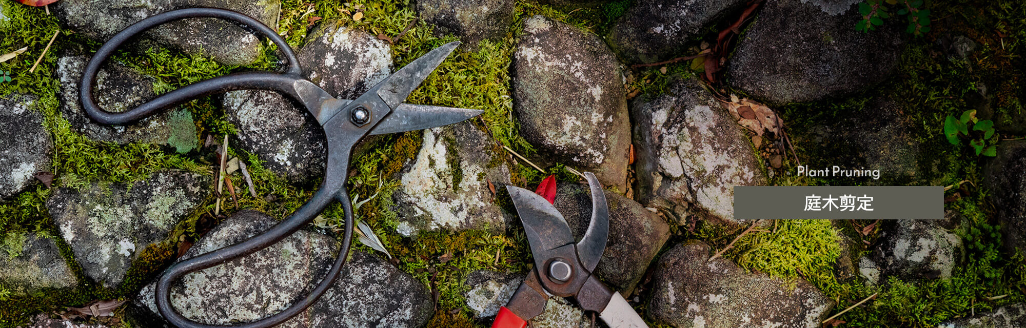
[[[739,39],[727,81],[779,106],[849,95],[886,79],[902,49],[904,32],[894,23],[900,19],[857,31],[862,16],[855,6],[832,14],[845,2],[853,1],[766,1]]]

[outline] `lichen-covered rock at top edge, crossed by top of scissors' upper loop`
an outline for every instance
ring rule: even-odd
[[[50,9],[69,29],[105,42],[121,30],[155,14],[186,7],[226,8],[242,12],[276,27],[281,4],[277,0],[149,0],[135,2],[70,0]],[[241,28],[218,18],[171,22],[147,32],[146,44],[159,44],[213,57],[226,65],[248,65],[256,60],[261,41]]]

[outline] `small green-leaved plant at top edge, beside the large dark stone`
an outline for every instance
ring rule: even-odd
[[[883,25],[883,19],[892,16],[887,12],[893,9],[892,6],[898,7],[897,14],[908,18],[906,32],[915,36],[930,32],[930,9],[924,8],[922,0],[865,0],[859,3],[862,20],[855,25],[855,29],[863,32],[876,30]]]

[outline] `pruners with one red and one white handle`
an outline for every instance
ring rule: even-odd
[[[506,187],[523,222],[535,269],[499,309],[491,328],[523,328],[545,311],[550,295],[573,297],[581,309],[598,313],[610,328],[648,327],[620,292],[592,274],[609,236],[609,208],[595,174],[584,176],[591,188],[591,223],[576,244],[566,219],[552,203],[528,190]]]

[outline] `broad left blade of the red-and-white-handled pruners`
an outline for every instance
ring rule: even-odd
[[[506,190],[510,192],[513,205],[520,214],[532,254],[538,256],[550,249],[574,243],[574,234],[566,224],[566,219],[549,201],[519,187],[507,186]]]

